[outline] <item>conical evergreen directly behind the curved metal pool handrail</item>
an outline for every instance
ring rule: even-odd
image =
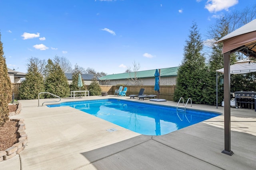
[[[61,98],[65,98],[70,95],[68,80],[57,61],[53,63],[52,60],[48,60],[45,75],[44,84],[46,92],[60,96]],[[46,95],[46,97],[52,98],[51,95]]]

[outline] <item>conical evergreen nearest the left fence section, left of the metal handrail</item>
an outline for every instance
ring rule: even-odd
[[[45,92],[44,79],[42,74],[38,72],[37,64],[33,60],[30,60],[26,79],[22,81],[20,86],[20,98],[36,99],[40,92]]]

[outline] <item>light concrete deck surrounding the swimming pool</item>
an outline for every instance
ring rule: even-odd
[[[130,97],[90,96],[61,102]],[[20,100],[28,143],[0,162],[0,170],[162,170],[256,169],[256,112],[231,107],[232,156],[223,154],[224,115],[162,136],[140,135],[71,107],[46,107],[52,99]],[[138,99],[134,99],[138,101]],[[176,102],[140,102],[176,106]],[[190,108],[190,107],[188,107]],[[192,109],[224,113],[223,107],[193,104]],[[107,129],[117,131],[109,132]]]

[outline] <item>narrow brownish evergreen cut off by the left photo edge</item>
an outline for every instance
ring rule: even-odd
[[[12,99],[11,80],[8,76],[0,33],[0,126],[9,119],[8,104]]]

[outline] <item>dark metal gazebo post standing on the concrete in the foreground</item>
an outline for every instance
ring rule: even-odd
[[[224,154],[232,155],[230,136],[230,51],[224,53]]]

